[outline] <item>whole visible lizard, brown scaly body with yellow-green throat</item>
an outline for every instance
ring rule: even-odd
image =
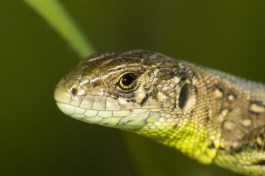
[[[59,81],[59,109],[133,131],[202,163],[265,175],[265,86],[151,51],[89,56]]]

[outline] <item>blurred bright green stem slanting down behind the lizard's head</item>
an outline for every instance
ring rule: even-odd
[[[74,20],[68,15],[61,3],[57,0],[24,0],[31,8],[46,20],[50,26],[84,58],[95,52],[92,45],[87,42],[83,33],[78,29]]]

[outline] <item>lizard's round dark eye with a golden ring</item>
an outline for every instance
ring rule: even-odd
[[[123,90],[131,90],[137,85],[137,76],[132,73],[123,74],[119,79],[119,87]]]

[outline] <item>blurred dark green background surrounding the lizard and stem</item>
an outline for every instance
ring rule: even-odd
[[[63,0],[97,51],[149,49],[265,82],[265,1]],[[23,1],[0,1],[0,175],[235,175],[63,115],[77,53]]]

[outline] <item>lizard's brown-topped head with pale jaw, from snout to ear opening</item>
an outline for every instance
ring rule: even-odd
[[[177,61],[150,51],[94,54],[59,81],[54,98],[73,118],[144,134],[172,129],[189,111],[187,75]]]

